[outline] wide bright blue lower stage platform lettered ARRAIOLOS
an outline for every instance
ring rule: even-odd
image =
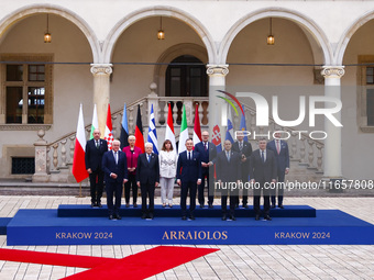
[[[166,210],[165,210],[166,211]],[[206,210],[209,212],[208,210]],[[316,217],[58,217],[57,210],[20,210],[8,224],[8,246],[15,245],[373,245],[374,225],[337,210]]]

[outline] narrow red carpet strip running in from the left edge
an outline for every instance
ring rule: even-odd
[[[68,254],[43,253],[32,250],[1,249],[0,259],[9,261],[31,262],[40,265],[92,268],[113,258],[100,258],[90,256],[78,256]]]

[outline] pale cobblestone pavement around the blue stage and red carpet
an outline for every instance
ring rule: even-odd
[[[1,195],[0,216],[12,217],[19,209],[56,209],[59,204],[89,204],[89,198]],[[156,200],[160,204],[160,199]],[[178,199],[175,200],[178,203]],[[215,204],[220,201],[216,200]],[[285,205],[307,204],[339,209],[374,223],[374,198],[286,198]],[[1,248],[123,258],[151,245],[113,246],[7,246]],[[208,246],[220,250],[150,279],[374,279],[374,246],[260,245]],[[59,279],[85,269],[0,261],[0,279]]]

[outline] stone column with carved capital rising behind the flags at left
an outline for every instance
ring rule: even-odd
[[[94,75],[94,104],[97,105],[99,128],[103,137],[107,122],[108,104],[110,102],[111,64],[91,64]]]

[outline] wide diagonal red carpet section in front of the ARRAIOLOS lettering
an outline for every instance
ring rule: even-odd
[[[64,279],[145,279],[217,250],[219,249],[158,246]]]

